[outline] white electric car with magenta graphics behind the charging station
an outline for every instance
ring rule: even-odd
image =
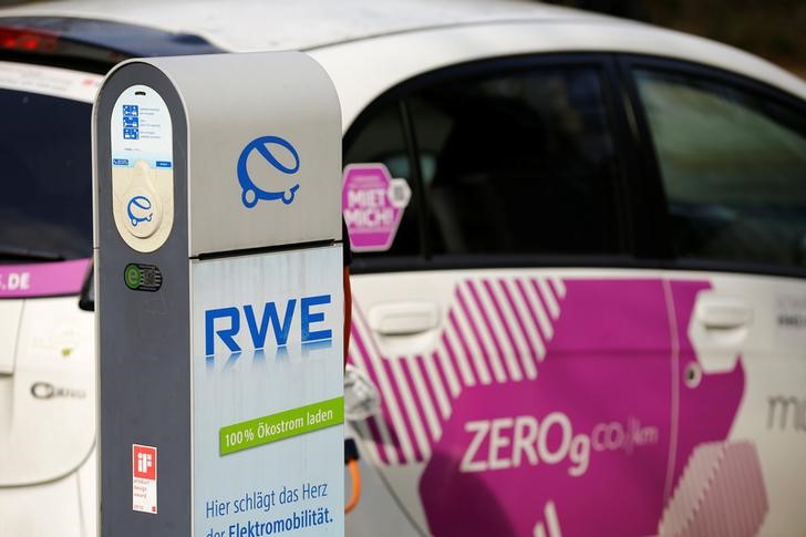
[[[103,73],[287,49],[342,106],[349,535],[806,533],[802,80],[528,2],[85,0],[0,11],[3,534],[96,534]]]

